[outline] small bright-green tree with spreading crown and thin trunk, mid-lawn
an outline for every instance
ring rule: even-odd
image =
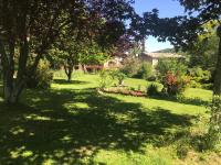
[[[63,66],[69,81],[74,66],[104,64],[109,58],[107,53],[112,47],[110,43],[109,47],[101,47],[96,42],[96,35],[88,38],[84,29],[70,31],[65,30],[51,50],[52,64],[59,62]]]

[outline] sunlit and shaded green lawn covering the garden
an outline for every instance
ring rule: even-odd
[[[98,81],[96,75],[77,75],[72,84],[55,77],[50,90],[23,92],[21,105],[9,107],[1,99],[0,164],[162,165],[192,161],[192,155],[180,160],[177,147],[187,131],[201,131],[203,120],[196,121],[199,116],[207,119],[204,105],[211,91],[188,89],[182,100],[98,95]],[[125,84],[147,86],[138,79]],[[198,163],[210,162],[193,152],[193,158],[201,157]]]

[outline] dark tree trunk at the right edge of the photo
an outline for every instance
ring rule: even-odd
[[[218,59],[215,67],[215,76],[214,76],[214,88],[213,95],[221,96],[221,25],[217,30],[219,42],[219,51],[218,51]]]

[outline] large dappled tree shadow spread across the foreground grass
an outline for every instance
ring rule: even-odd
[[[99,150],[141,152],[162,146],[168,129],[191,124],[191,116],[99,96],[94,90],[28,91],[13,107],[0,103],[0,164],[81,164]],[[172,143],[172,142],[171,142]]]

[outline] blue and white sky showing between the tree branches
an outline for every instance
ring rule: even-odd
[[[177,0],[135,0],[134,8],[139,14],[156,8],[159,10],[160,18],[172,18],[185,13],[183,7],[181,7]],[[147,52],[156,52],[171,47],[172,45],[169,42],[159,43],[157,38],[152,36],[149,36],[146,41]]]

